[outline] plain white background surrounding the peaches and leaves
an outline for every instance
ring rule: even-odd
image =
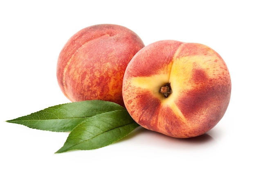
[[[6,0],[0,2],[0,169],[255,169],[256,10],[251,0]],[[119,24],[145,45],[163,39],[216,50],[231,74],[225,116],[206,135],[174,139],[138,128],[96,150],[54,154],[68,133],[5,122],[70,102],[56,81],[66,41]]]

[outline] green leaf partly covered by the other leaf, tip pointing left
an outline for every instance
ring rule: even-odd
[[[126,109],[114,102],[86,100],[56,105],[7,122],[23,124],[33,129],[65,132],[72,131],[76,125],[92,116],[115,110]]]

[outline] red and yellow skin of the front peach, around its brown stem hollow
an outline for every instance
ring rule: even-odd
[[[166,83],[172,91],[167,97],[160,92]],[[224,116],[230,95],[227,65],[203,44],[149,44],[135,54],[124,74],[123,98],[130,116],[171,137],[195,137],[212,129]]]

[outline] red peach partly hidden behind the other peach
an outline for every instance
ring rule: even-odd
[[[143,47],[140,37],[124,26],[99,24],[84,28],[67,41],[59,54],[58,85],[72,102],[107,100],[124,106],[124,72]]]

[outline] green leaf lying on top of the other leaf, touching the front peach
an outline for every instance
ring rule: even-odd
[[[138,126],[126,110],[98,114],[76,126],[56,153],[101,148],[125,137]]]

